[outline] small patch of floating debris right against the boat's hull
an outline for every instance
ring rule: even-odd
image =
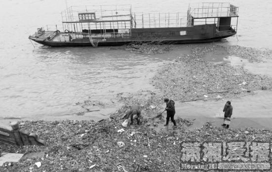
[[[172,49],[170,44],[163,44],[162,42],[131,43],[125,45],[125,47],[127,51],[136,54],[160,54]]]

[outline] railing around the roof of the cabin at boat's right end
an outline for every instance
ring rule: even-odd
[[[190,3],[189,14],[194,18],[238,17],[239,8],[225,2]]]

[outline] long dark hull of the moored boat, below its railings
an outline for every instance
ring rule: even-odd
[[[182,35],[182,33],[185,33]],[[51,47],[62,46],[112,46],[128,43],[162,42],[166,44],[199,43],[218,41],[236,34],[230,28],[227,31],[218,31],[216,25],[198,25],[183,28],[140,28],[131,29],[131,34],[107,33],[107,36],[77,37],[82,33],[46,33],[46,36],[30,36],[43,45]],[[51,35],[51,36],[47,36]],[[69,37],[68,37],[69,35]],[[72,35],[72,36],[71,36]],[[66,36],[66,39],[63,38]]]

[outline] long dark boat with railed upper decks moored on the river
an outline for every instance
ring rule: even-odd
[[[29,39],[52,47],[124,45],[131,42],[196,43],[237,33],[238,7],[190,3],[187,13],[133,13],[131,5],[71,6],[62,25],[46,25]]]

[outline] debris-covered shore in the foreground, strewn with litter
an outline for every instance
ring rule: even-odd
[[[221,142],[231,140],[271,142],[271,130],[230,129],[207,123],[201,129],[183,128],[156,133],[142,126],[123,128],[119,118],[89,121],[25,121],[46,140],[46,146],[0,145],[0,150],[43,156],[21,159],[0,167],[1,172],[159,172],[179,171],[183,141]]]

